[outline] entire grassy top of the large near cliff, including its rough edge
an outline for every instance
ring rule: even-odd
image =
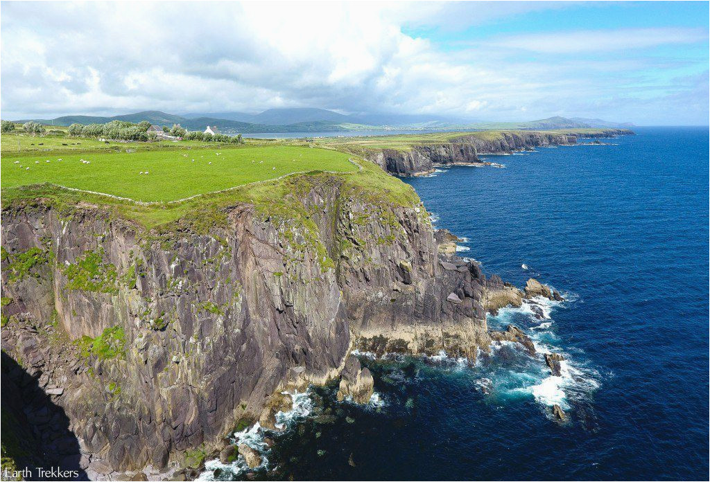
[[[3,147],[6,139],[16,137],[3,134]],[[120,142],[116,144],[121,150],[97,150],[99,141],[65,138],[62,143],[83,146],[66,150],[48,146],[57,136],[22,137],[35,146],[3,152],[0,161],[3,208],[32,205],[37,199],[61,209],[89,203],[145,228],[185,220],[208,232],[222,216],[221,208],[250,203],[262,213],[288,216],[298,208],[299,196],[324,184],[337,184],[348,195],[389,206],[419,202],[410,186],[371,162],[295,140],[247,145],[170,142],[172,148],[156,147],[157,142]],[[40,143],[45,150],[33,150]]]

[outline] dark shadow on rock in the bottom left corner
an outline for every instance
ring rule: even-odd
[[[69,430],[64,409],[4,351],[1,383],[3,457],[11,457],[18,470],[28,469],[23,474],[28,481],[89,480],[80,466],[79,441]],[[54,473],[40,473],[40,468],[54,469]],[[62,473],[58,475],[58,471]],[[67,471],[74,471],[75,476]]]

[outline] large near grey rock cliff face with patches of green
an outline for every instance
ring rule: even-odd
[[[39,451],[97,478],[198,466],[237,425],[273,420],[280,391],[336,379],[355,347],[487,350],[486,310],[520,291],[439,257],[413,191],[344,179],[220,194],[150,230],[62,196],[6,203],[4,393],[36,444],[18,461]],[[361,396],[368,375],[344,390]]]

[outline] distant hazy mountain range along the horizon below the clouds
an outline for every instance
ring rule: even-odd
[[[207,125],[217,125],[224,133],[294,133],[338,132],[343,130],[411,129],[411,130],[464,130],[464,129],[569,129],[569,128],[627,128],[630,123],[614,123],[601,119],[550,117],[529,122],[485,123],[442,116],[407,116],[398,114],[367,114],[346,116],[320,108],[272,108],[258,114],[244,112],[186,113],[182,116],[160,111],[143,111],[122,116],[62,116],[55,119],[26,119],[48,125],[72,123],[107,123],[111,120],[141,120],[157,125],[180,124],[187,130],[204,130]]]

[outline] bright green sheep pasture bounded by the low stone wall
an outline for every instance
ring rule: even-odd
[[[35,142],[43,139],[33,138]],[[79,142],[83,146],[90,141]],[[294,172],[355,172],[358,168],[349,157],[334,150],[278,145],[132,153],[55,150],[42,155],[3,155],[2,187],[50,183],[135,201],[176,201]]]

